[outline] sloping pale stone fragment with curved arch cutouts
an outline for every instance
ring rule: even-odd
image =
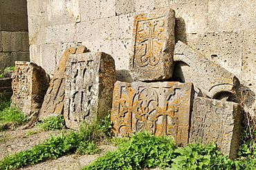
[[[227,99],[236,93],[239,80],[225,68],[214,64],[189,46],[178,41],[174,50],[174,62],[177,62],[173,78],[182,82],[192,82],[196,93],[213,99]]]

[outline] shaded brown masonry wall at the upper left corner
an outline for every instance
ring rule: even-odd
[[[0,69],[29,61],[26,0],[0,0]]]

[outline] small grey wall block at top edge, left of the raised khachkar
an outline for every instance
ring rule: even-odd
[[[116,0],[116,15],[126,15],[135,12],[135,0]]]

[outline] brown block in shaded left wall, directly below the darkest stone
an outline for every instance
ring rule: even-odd
[[[29,51],[28,32],[1,32],[3,52]]]

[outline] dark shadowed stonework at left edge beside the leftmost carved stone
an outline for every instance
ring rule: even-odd
[[[0,101],[10,100],[12,97],[12,78],[0,77]]]

